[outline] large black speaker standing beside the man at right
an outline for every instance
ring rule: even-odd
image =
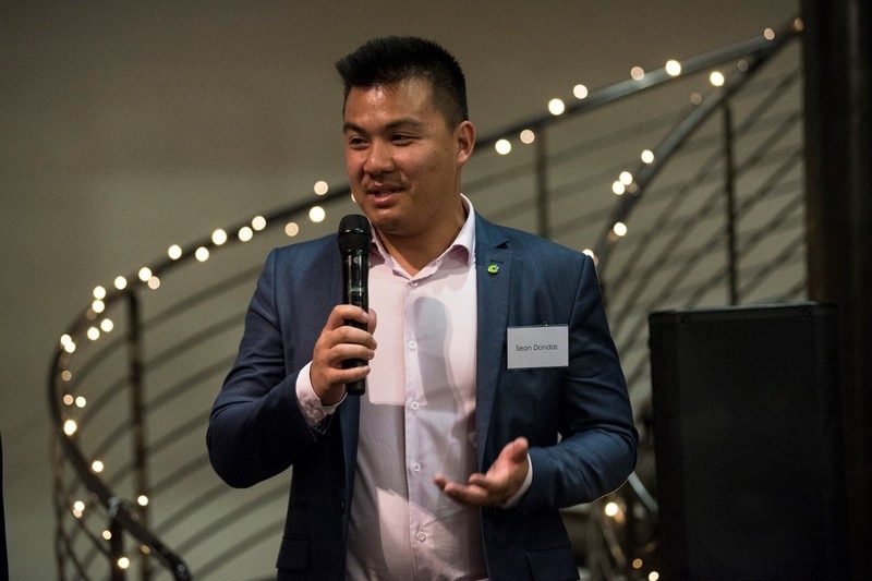
[[[845,579],[836,308],[649,316],[665,581]]]

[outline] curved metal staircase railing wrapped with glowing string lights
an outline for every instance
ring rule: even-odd
[[[477,211],[598,261],[643,453],[621,491],[565,513],[597,577],[656,568],[646,314],[804,296],[800,25],[770,33],[485,136],[465,170]],[[711,87],[704,73],[722,66]],[[651,159],[621,174],[643,150]],[[335,189],[95,289],[48,382],[60,579],[274,574],[288,476],[230,491],[208,464],[207,414],[267,250],[334,233],[318,215],[353,209]]]

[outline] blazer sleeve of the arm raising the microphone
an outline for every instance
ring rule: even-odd
[[[269,254],[245,315],[239,354],[209,416],[209,460],[234,487],[282,472],[319,437],[303,416],[295,383],[331,304],[328,292],[313,291],[319,270],[306,264],[324,256],[298,258],[301,254],[287,247]],[[310,316],[295,317],[298,310]]]

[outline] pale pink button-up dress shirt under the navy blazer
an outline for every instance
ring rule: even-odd
[[[479,509],[456,503],[433,482],[438,472],[465,482],[477,471],[475,219],[463,202],[469,211],[457,239],[414,276],[374,237],[370,308],[378,315],[378,348],[361,399],[348,546],[352,581],[487,577]],[[320,404],[307,370],[299,377],[298,397],[316,425],[338,406]],[[531,481],[532,470],[511,500]]]

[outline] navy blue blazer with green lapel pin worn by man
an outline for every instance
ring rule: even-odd
[[[488,273],[489,265],[498,271]],[[519,436],[530,441],[533,465],[518,506],[481,511],[488,576],[576,579],[558,509],[620,486],[633,470],[638,439],[593,262],[476,217],[475,268],[480,470]],[[274,250],[209,419],[209,458],[231,486],[293,467],[279,579],[346,574],[360,400],[347,398],[326,428],[313,429],[294,388],[342,294],[335,237]],[[532,325],[568,325],[568,367],[508,368],[507,329]]]

